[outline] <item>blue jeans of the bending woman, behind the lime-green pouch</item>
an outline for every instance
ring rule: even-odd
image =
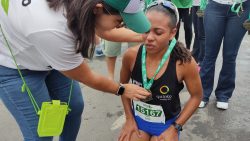
[[[37,135],[38,116],[28,94],[21,92],[22,81],[16,69],[0,66],[0,97],[18,123],[25,141],[52,141],[52,137]],[[22,70],[22,74],[37,104],[59,99],[68,102],[71,80],[60,72]],[[78,82],[73,83],[71,111],[66,116],[60,141],[76,140],[83,112],[83,98]]]

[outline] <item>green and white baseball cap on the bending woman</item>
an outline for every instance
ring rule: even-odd
[[[118,10],[126,26],[137,32],[149,31],[151,24],[143,12],[144,0],[104,0],[106,4]]]

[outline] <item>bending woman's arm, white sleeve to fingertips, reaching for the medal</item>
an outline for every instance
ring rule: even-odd
[[[92,71],[81,54],[76,54],[74,40],[67,31],[35,31],[27,35],[27,38],[53,69],[94,89],[117,92],[118,83]],[[124,96],[131,99],[141,99],[149,95],[146,90],[136,85],[125,84],[124,87]]]

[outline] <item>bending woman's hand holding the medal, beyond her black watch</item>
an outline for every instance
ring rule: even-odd
[[[135,84],[123,84],[123,86],[125,87],[125,92],[122,96],[131,100],[146,99],[151,95],[147,90]]]

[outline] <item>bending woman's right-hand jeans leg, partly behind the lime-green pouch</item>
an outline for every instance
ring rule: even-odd
[[[51,99],[68,102],[72,80],[56,70],[50,71],[46,77],[46,85]],[[79,82],[73,81],[72,94],[69,108],[71,111],[66,116],[60,141],[75,141],[81,126],[82,112],[84,108],[83,97]]]

